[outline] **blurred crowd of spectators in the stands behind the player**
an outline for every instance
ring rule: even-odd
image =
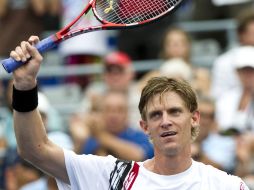
[[[45,31],[60,29],[86,3],[0,0],[0,58],[8,57],[10,50],[30,35],[43,38]],[[177,26],[180,21],[226,18],[237,21],[238,44],[230,49],[221,33],[194,35]],[[82,22],[97,23],[89,14]],[[205,38],[220,44],[220,53],[211,67],[192,62],[194,41]],[[136,161],[153,157],[149,138],[139,129],[141,89],[151,77],[180,78],[190,82],[199,98],[201,122],[199,137],[192,144],[193,159],[236,174],[254,189],[252,0],[186,0],[158,23],[117,33],[88,33],[64,42],[54,53],[62,58],[63,66],[100,63],[103,70],[99,75],[61,80],[60,85],[78,86],[82,97],[67,118],[54,107],[47,93],[40,91],[38,108],[53,142],[80,154],[111,154]],[[135,71],[133,62],[149,59],[162,64],[145,73]],[[38,82],[43,89],[45,81]],[[57,189],[53,178],[18,156],[11,102],[12,81],[0,78],[0,190]]]

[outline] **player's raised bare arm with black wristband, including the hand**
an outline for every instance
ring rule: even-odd
[[[13,72],[13,117],[18,152],[27,161],[48,174],[69,183],[63,150],[47,137],[37,110],[37,73],[42,56],[34,47],[39,41],[31,36],[11,52],[17,61],[26,62]]]

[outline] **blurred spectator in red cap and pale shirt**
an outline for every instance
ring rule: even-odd
[[[114,51],[104,57],[103,64],[102,81],[91,83],[85,90],[82,112],[96,111],[99,106],[97,100],[106,91],[120,91],[127,95],[129,121],[133,126],[138,126],[137,105],[140,95],[134,82],[132,60],[126,53]]]

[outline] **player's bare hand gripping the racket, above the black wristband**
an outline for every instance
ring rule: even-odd
[[[37,36],[31,36],[28,41],[21,42],[10,56],[24,65],[13,72],[14,86],[19,90],[29,90],[36,86],[36,77],[43,60],[41,54],[34,47],[39,42]]]

